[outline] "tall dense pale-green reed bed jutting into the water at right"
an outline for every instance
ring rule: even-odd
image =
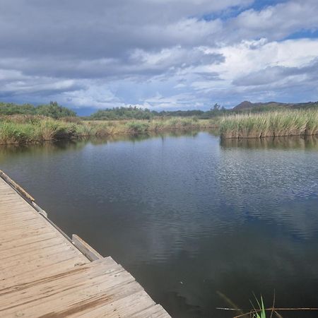
[[[318,134],[318,110],[282,110],[259,114],[235,114],[220,119],[224,139]]]

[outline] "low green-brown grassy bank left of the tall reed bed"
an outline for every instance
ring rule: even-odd
[[[146,134],[175,129],[203,129],[211,120],[170,118],[129,121],[81,121],[78,118],[52,119],[42,116],[7,116],[0,118],[0,143],[39,143],[84,136]]]

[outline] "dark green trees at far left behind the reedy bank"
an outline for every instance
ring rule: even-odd
[[[69,108],[60,106],[57,102],[50,102],[48,105],[34,106],[31,104],[18,105],[8,102],[0,102],[0,115],[27,114],[42,115],[55,119],[62,117],[74,117],[76,112]]]

